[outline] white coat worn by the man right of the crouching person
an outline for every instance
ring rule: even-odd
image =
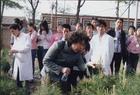
[[[105,75],[110,75],[110,64],[114,54],[114,39],[108,34],[93,36],[90,41],[91,49],[86,55],[88,64],[102,64]]]

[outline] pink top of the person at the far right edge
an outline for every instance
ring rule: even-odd
[[[136,36],[130,36],[128,38],[127,50],[134,54],[140,53],[140,44],[138,43]]]

